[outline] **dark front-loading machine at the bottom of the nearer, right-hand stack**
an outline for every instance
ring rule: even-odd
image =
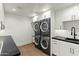
[[[41,50],[46,54],[50,55],[50,37],[41,36],[40,45],[41,45]]]

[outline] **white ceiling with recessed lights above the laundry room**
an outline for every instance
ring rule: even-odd
[[[32,17],[34,13],[42,13],[44,9],[61,9],[72,3],[4,3],[4,11],[12,14]],[[15,8],[16,11],[12,11]]]

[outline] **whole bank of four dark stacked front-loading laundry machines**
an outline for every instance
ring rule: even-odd
[[[35,47],[50,55],[50,18],[34,22]]]

